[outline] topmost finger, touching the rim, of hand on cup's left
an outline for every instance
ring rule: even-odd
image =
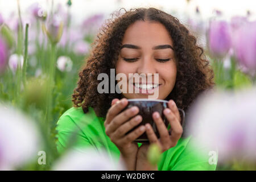
[[[120,102],[110,107],[107,115],[106,115],[106,121],[104,125],[108,125],[110,121],[114,119],[114,117],[119,114],[128,104],[128,101],[126,98],[122,98]]]

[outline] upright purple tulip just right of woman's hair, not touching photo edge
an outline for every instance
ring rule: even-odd
[[[213,20],[209,27],[209,48],[216,56],[224,56],[232,45],[231,28],[225,21]]]

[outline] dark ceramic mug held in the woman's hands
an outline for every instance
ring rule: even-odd
[[[151,99],[144,99],[144,98],[138,98],[138,99],[127,99],[128,105],[125,107],[125,109],[128,109],[133,106],[137,106],[139,108],[138,115],[142,116],[142,122],[139,123],[139,125],[135,126],[134,129],[130,130],[126,134],[129,134],[131,131],[137,129],[141,125],[146,125],[146,123],[150,123],[152,126],[156,137],[159,138],[158,129],[155,125],[154,119],[152,118],[152,114],[155,111],[158,111],[160,114],[160,117],[163,119],[164,125],[168,127],[168,120],[166,119],[165,115],[163,114],[163,110],[168,107],[168,101],[165,100],[151,100]],[[125,110],[123,109],[123,110]],[[185,112],[183,109],[179,109],[180,118],[181,118],[181,126],[183,126],[184,120],[185,120]],[[169,130],[169,134],[171,134],[171,130]],[[149,142],[147,138],[146,132],[143,133],[140,137],[138,137],[135,142]]]

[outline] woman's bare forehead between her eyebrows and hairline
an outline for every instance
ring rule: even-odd
[[[146,44],[151,46],[171,44],[173,46],[172,38],[163,24],[141,20],[127,28],[123,36],[123,44],[125,43],[134,43],[138,46]]]

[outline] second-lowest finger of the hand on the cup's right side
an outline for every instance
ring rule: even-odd
[[[156,127],[160,135],[161,143],[163,144],[170,143],[170,135],[168,133],[166,125],[164,125],[163,119],[160,117],[160,114],[158,112],[154,112],[153,119],[154,119],[154,122],[156,123]]]

